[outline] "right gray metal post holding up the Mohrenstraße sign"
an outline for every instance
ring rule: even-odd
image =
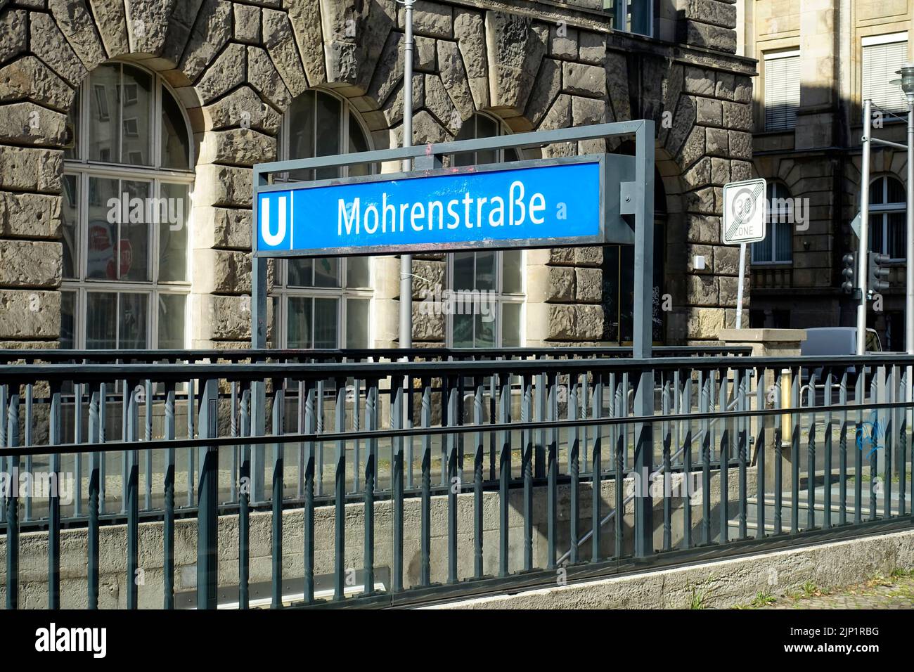
[[[634,189],[634,319],[632,357],[651,357],[654,323],[654,122],[644,121],[635,132]],[[654,373],[643,368],[634,398],[634,414],[654,415]],[[653,471],[654,426],[637,422],[634,426],[634,469],[642,480],[635,490],[634,553],[646,557],[654,552],[654,506],[647,477]],[[616,475],[617,478],[619,475]],[[635,481],[637,485],[638,480]],[[616,487],[621,484],[617,483]],[[617,514],[619,515],[619,514]]]

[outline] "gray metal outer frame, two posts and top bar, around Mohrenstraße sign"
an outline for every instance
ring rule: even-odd
[[[349,155],[318,156],[292,161],[278,161],[254,165],[253,170],[253,223],[251,233],[257,235],[257,194],[269,185],[273,173],[317,168],[337,168],[345,165],[383,164],[385,162],[413,160],[414,171],[433,171],[442,167],[441,157],[454,154],[469,154],[486,150],[525,149],[542,147],[546,144],[578,143],[583,140],[607,139],[611,137],[634,136],[635,155],[631,180],[620,181],[618,187],[604,185],[607,195],[619,194],[620,213],[632,216],[634,245],[633,268],[633,320],[632,357],[651,357],[653,315],[654,315],[654,121],[635,120],[631,122],[599,123],[576,128],[562,128],[554,131],[516,133],[490,138],[477,138],[452,143],[420,144],[394,149],[359,152]],[[504,167],[504,165],[502,165]],[[618,189],[618,191],[617,191]],[[251,250],[256,249],[253,244]],[[251,260],[251,347],[263,349],[267,346],[267,263],[264,256],[253,256]],[[654,415],[654,377],[644,371],[635,382],[637,387],[633,406],[635,416]],[[251,417],[254,434],[265,432],[266,392],[263,383],[252,384]],[[633,467],[638,474],[650,474],[654,462],[654,438],[651,422],[634,423],[635,449]],[[261,468],[264,459],[263,448],[254,451],[251,462],[252,496],[256,500],[262,494]],[[634,501],[635,555],[645,556],[653,548],[653,504],[650,492],[638,493]]]

